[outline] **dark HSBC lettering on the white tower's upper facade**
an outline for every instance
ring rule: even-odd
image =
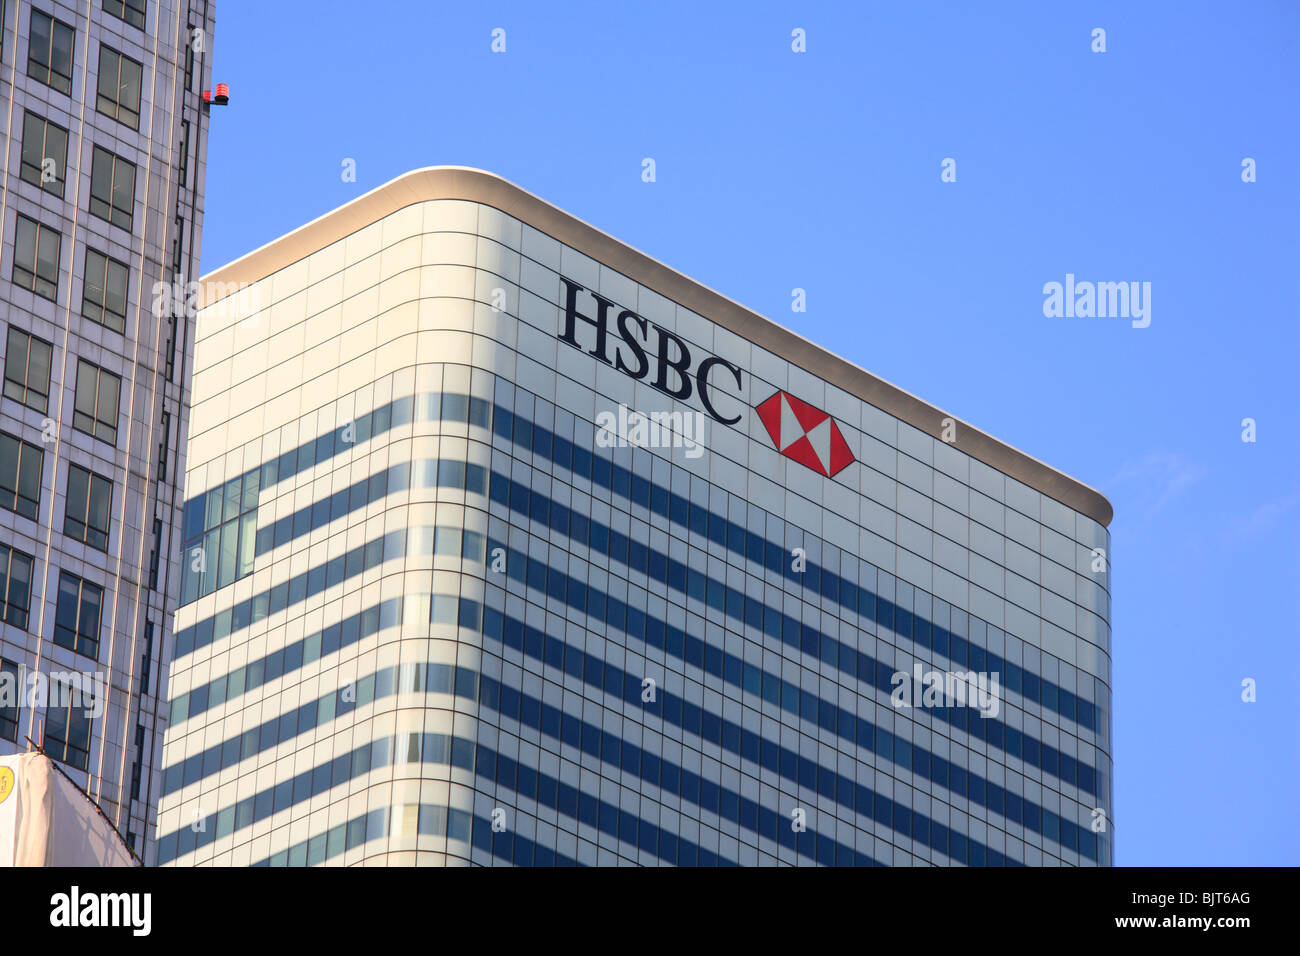
[[[719,381],[734,381],[736,392],[742,394],[738,365],[716,355],[708,355],[696,364],[696,356],[686,343],[668,329],[655,325],[630,308],[619,308],[572,280],[560,276],[560,282],[564,284],[564,324],[559,334],[562,342],[637,381],[649,380],[651,388],[679,402],[689,402],[692,394],[698,395],[705,411],[724,425],[734,425],[741,420],[740,412],[728,416],[714,405]],[[578,293],[586,293],[595,302],[594,315],[578,311]],[[578,323],[592,328],[590,349],[577,339]],[[718,375],[711,380],[714,372]]]

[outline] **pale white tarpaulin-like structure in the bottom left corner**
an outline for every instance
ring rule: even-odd
[[[49,757],[0,757],[0,866],[134,865],[95,804]]]

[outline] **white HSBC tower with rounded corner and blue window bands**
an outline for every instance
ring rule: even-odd
[[[160,862],[1112,861],[1097,492],[477,170],[207,281]]]

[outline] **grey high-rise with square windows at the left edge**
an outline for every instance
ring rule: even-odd
[[[0,0],[0,754],[40,744],[148,862],[213,18]]]

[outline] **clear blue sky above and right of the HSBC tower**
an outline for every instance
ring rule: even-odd
[[[1118,862],[1300,864],[1294,3],[221,0],[213,62],[205,271],[480,166],[1098,488]]]

